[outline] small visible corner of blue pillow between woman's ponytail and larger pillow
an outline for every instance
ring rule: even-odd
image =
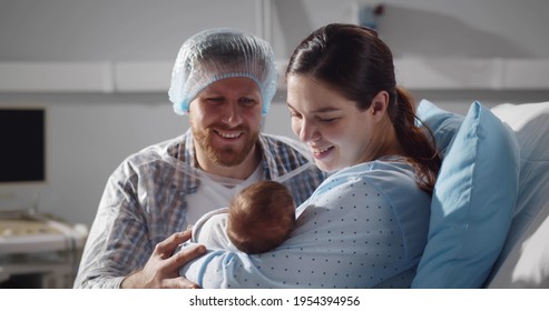
[[[431,129],[437,147],[444,157],[464,117],[440,109],[428,100],[420,101],[416,116]]]

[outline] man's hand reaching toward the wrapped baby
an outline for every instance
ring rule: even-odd
[[[197,289],[198,285],[179,277],[179,268],[206,252],[204,245],[193,245],[174,254],[175,249],[190,239],[190,230],[176,232],[156,244],[145,267],[126,277],[122,289]]]

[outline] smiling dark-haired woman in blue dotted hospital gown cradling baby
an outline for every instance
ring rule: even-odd
[[[286,71],[292,129],[333,172],[297,228],[261,255],[214,251],[180,270],[203,287],[406,288],[427,242],[440,158],[370,29],[329,24]]]

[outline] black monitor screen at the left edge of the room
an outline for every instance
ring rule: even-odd
[[[0,183],[46,180],[43,109],[0,108]]]

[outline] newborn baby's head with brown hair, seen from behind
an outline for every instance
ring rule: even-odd
[[[275,181],[256,182],[233,198],[227,234],[246,253],[262,253],[282,244],[295,225],[295,202]]]

